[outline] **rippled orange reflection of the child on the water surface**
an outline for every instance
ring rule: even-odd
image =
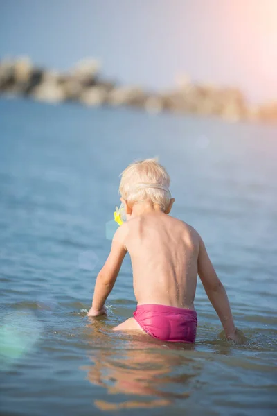
[[[114,333],[103,333],[99,324],[92,327],[93,351],[89,353],[89,359],[93,364],[82,367],[87,371],[87,379],[106,388],[109,394],[140,397],[135,401],[126,397],[121,403],[96,400],[94,403],[98,408],[168,406],[175,399],[190,396],[195,376],[202,367],[199,361],[186,354],[186,350],[194,349],[194,345],[163,345],[148,336],[128,337],[124,334],[125,338],[120,335],[124,345],[118,349],[118,337],[114,339]],[[143,397],[151,399],[143,401]]]

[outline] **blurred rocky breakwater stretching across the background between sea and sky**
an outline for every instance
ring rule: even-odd
[[[149,92],[139,86],[122,86],[100,76],[97,60],[86,59],[68,72],[36,67],[29,58],[0,61],[0,94],[29,96],[46,103],[77,101],[83,105],[132,106],[152,113],[220,116],[229,121],[277,122],[277,101],[253,107],[238,89],[193,84],[179,80],[168,92]]]

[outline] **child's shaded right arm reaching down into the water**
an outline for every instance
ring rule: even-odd
[[[220,279],[218,279],[202,238],[199,236],[198,275],[202,281],[208,299],[220,318],[226,337],[238,341],[237,329],[233,322],[229,300]]]

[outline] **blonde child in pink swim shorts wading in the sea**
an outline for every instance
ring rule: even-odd
[[[237,342],[226,291],[202,238],[190,225],[168,216],[174,202],[169,185],[166,169],[155,159],[135,162],[122,173],[119,191],[127,221],[114,234],[87,315],[105,313],[105,301],[129,252],[138,305],[134,318],[115,331],[136,330],[160,340],[194,343],[197,314],[193,302],[199,275],[226,337]]]

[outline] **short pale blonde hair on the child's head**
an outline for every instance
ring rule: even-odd
[[[151,200],[166,211],[171,198],[169,185],[170,176],[157,159],[145,159],[130,164],[121,173],[119,192],[131,205]]]

